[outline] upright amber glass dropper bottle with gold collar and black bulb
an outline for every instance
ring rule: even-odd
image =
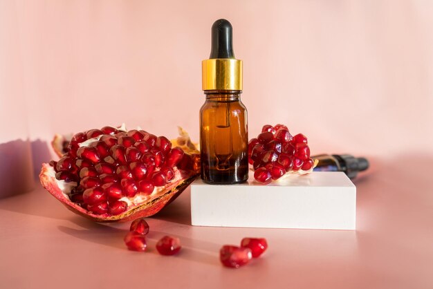
[[[242,61],[234,58],[229,21],[212,25],[210,59],[202,68],[201,178],[210,184],[243,183],[248,180],[248,117],[241,102]]]

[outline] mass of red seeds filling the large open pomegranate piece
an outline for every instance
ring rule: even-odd
[[[85,144],[82,144],[86,142]],[[76,133],[68,152],[50,162],[57,180],[76,182],[69,198],[93,214],[122,214],[122,198],[149,195],[175,178],[174,167],[190,165],[191,156],[164,136],[114,127]]]

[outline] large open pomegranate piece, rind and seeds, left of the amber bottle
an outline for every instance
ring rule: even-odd
[[[56,145],[61,158],[42,165],[42,185],[68,209],[97,222],[156,214],[199,172],[195,147],[172,148],[163,136],[123,126],[76,133],[71,140],[56,136]]]

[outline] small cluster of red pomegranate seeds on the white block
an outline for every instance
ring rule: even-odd
[[[314,165],[306,136],[292,136],[283,124],[264,125],[259,136],[248,143],[248,161],[254,167],[254,178],[264,184],[288,171],[308,171]]]

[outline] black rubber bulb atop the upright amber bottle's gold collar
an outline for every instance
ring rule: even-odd
[[[209,59],[230,58],[233,53],[233,28],[225,19],[218,19],[212,25],[212,48]]]

